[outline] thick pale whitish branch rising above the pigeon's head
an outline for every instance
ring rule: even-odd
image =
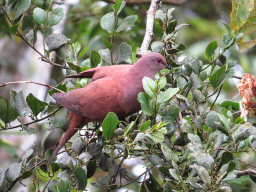
[[[145,36],[142,41],[140,48],[136,53],[136,57],[140,58],[146,51],[149,46],[149,43],[154,37],[153,25],[154,25],[154,15],[157,8],[161,5],[161,0],[151,0],[150,6],[146,11],[146,29]]]

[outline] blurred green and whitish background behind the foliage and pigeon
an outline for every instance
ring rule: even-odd
[[[46,0],[32,0],[31,6],[27,10],[28,14],[31,15],[33,8],[36,6],[43,8],[45,1]],[[109,34],[100,27],[99,22],[104,14],[112,11],[112,3],[107,2],[109,0],[56,1],[59,3],[57,6],[61,6],[64,9],[64,17],[57,25],[50,29],[53,33],[63,33],[66,37],[71,39],[70,42],[79,41],[81,48],[87,45],[89,45],[89,50],[105,48],[101,38],[109,38]],[[125,31],[118,33],[114,38],[113,49],[116,50],[114,52],[114,59],[118,56],[117,46],[121,42],[125,41],[131,45],[133,52],[137,47],[140,47],[144,35],[145,16],[148,7],[149,3],[127,3],[120,12],[120,17],[136,14],[138,19],[133,27],[128,27]],[[176,43],[182,42],[186,47],[186,50],[182,52],[178,60],[182,60],[185,56],[196,56],[203,62],[206,62],[204,50],[209,42],[217,40],[218,46],[221,47],[224,45],[222,41],[224,27],[219,19],[223,20],[225,23],[229,23],[231,0],[186,0],[180,5],[162,3],[160,9],[165,12],[166,8],[171,7],[175,7],[175,10],[172,12],[172,19],[176,19],[178,24],[189,24],[189,26],[185,26],[179,30],[176,38]],[[157,24],[154,25],[154,34],[155,38],[153,41],[161,39],[162,30]],[[38,31],[35,47],[40,50],[40,52],[43,52],[42,44],[42,34]],[[87,53],[88,52],[89,51],[87,51]],[[237,64],[234,66],[236,75],[242,76],[242,74],[246,72],[253,75],[256,74],[255,52],[256,48],[252,47],[246,52],[238,53],[238,47],[234,45],[228,49],[224,55],[228,58],[228,61],[237,60]],[[54,52],[50,54],[54,57]],[[39,55],[24,41],[10,34],[9,24],[3,13],[0,12],[0,83],[32,80],[52,86],[58,84],[60,80],[57,79],[64,75],[64,70],[43,62],[38,59],[38,57]],[[85,54],[84,58],[87,57],[88,55]],[[56,63],[61,62],[57,60],[57,58],[55,61]],[[223,84],[223,90],[217,102],[223,101],[223,99],[239,100],[235,83],[237,83],[237,81],[232,78],[227,83]],[[36,84],[11,84],[0,87],[0,95],[9,98],[10,90],[22,90],[24,97],[31,92],[37,98],[45,100],[48,89]],[[59,110],[57,115],[65,116],[65,109]],[[53,147],[60,138],[61,131],[60,129],[51,127],[52,125],[49,125],[48,122],[49,120],[46,119],[40,123],[31,124],[31,127],[36,128],[40,132],[39,134],[26,134],[23,131],[20,132],[20,128],[0,131],[0,167],[5,170],[11,163],[17,162],[26,149],[34,145],[39,146],[41,137],[48,128],[51,128],[52,132],[45,142],[47,145],[45,148]],[[11,125],[15,125],[15,123],[17,122],[12,122]],[[240,155],[242,156],[243,154]],[[246,160],[249,158],[254,159],[251,156],[244,155],[242,158]],[[144,164],[142,161],[139,161],[139,159],[127,159],[124,161],[124,164],[134,175],[139,175],[145,170]],[[88,183],[96,181],[98,177],[103,175],[103,172],[98,171],[98,174],[90,178]],[[38,176],[40,177],[40,175]],[[233,191],[252,190],[253,187],[249,180],[249,178],[243,176],[232,181],[232,186],[235,186],[236,182],[244,182],[244,188],[234,187]],[[41,177],[41,181],[43,186],[45,182],[43,177]],[[29,178],[26,184],[29,184]],[[33,191],[32,186],[24,188],[24,191],[28,191],[28,188],[30,188],[29,191]],[[131,188],[129,191],[139,190],[139,186],[136,183],[129,185],[128,188]],[[18,189],[13,189],[13,191],[20,191],[20,189],[22,189],[22,185],[20,185]],[[87,189],[88,191],[97,190],[90,184],[87,186]]]

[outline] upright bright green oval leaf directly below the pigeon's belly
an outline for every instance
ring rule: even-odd
[[[114,112],[108,112],[106,117],[102,122],[102,135],[108,139],[111,138],[114,134],[114,130],[116,129],[116,125],[118,124],[118,117]]]

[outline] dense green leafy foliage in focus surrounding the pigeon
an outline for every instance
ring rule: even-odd
[[[180,28],[188,24],[178,24],[172,18],[174,8],[158,9],[155,12],[155,27],[162,36],[151,43],[151,50],[148,51],[163,54],[172,69],[161,70],[155,79],[143,78],[145,92],[138,94],[141,111],[125,119],[118,119],[113,112],[109,112],[102,125],[88,123],[71,139],[70,147],[60,151],[68,153],[55,159],[49,167],[46,163],[53,149],[44,149],[44,142],[51,133],[51,130],[46,130],[40,148],[29,148],[21,161],[11,164],[5,171],[0,168],[1,188],[11,190],[17,181],[22,182],[22,179],[29,177],[32,191],[82,191],[98,167],[97,171],[105,171],[106,174],[90,183],[103,191],[129,187],[132,183],[139,183],[140,191],[241,191],[245,186],[237,180],[239,177],[249,175],[255,182],[256,171],[240,165],[244,162],[240,159],[241,154],[256,152],[252,145],[256,140],[253,116],[255,78],[247,74],[240,80],[239,91],[243,96],[240,103],[225,100],[215,106],[223,84],[235,77],[233,67],[236,61],[229,61],[225,52],[235,42],[239,51],[255,43],[253,36],[249,36],[252,29],[248,31],[246,27],[253,26],[254,1],[243,1],[233,0],[231,26],[223,22],[223,46],[218,46],[216,40],[208,43],[204,47],[203,61],[192,56],[178,60],[185,45],[177,43],[176,38]],[[63,68],[66,75],[124,61],[134,64],[138,59],[135,56],[137,48],[129,43],[120,42],[117,47],[113,45],[115,37],[119,35],[120,38],[122,33],[132,31],[138,19],[136,14],[121,15],[126,8],[124,0],[117,0],[108,6],[111,10],[109,8],[109,12],[94,25],[105,31],[101,38],[105,48],[99,50],[90,50],[88,45],[82,47],[80,42],[64,34],[51,33],[51,27],[63,17],[61,7],[52,8],[53,0],[47,0],[41,8],[30,5],[30,2],[6,0],[1,3],[1,14],[5,15],[6,23],[11,23],[12,34],[37,51],[46,64]],[[6,30],[8,26],[3,27]],[[43,53],[34,47],[38,31],[44,37]],[[57,58],[50,56],[51,51],[56,52]],[[116,59],[114,52],[118,52]],[[69,78],[55,87],[46,85],[51,89],[45,101],[31,93],[24,99],[22,91],[11,91],[9,99],[0,96],[0,131],[20,127],[27,134],[36,134],[38,131],[29,124],[44,119],[49,119],[57,128],[63,127],[67,120],[58,115],[61,106],[52,101],[51,95],[84,87],[89,81],[88,78]],[[5,85],[8,83],[0,86]],[[210,97],[214,97],[213,102]],[[25,122],[25,116],[29,116],[31,121]],[[20,124],[10,126],[9,123],[15,119]],[[34,150],[36,155],[32,156]],[[134,177],[122,163],[124,159],[136,157],[145,162],[146,170]],[[38,175],[47,178],[40,188]],[[237,186],[242,189],[236,190]]]

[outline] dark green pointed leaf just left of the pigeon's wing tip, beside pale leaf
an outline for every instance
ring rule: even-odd
[[[26,102],[30,106],[35,116],[37,116],[37,114],[41,112],[46,105],[48,105],[46,102],[43,102],[38,98],[36,98],[32,93],[29,93],[27,95]]]

